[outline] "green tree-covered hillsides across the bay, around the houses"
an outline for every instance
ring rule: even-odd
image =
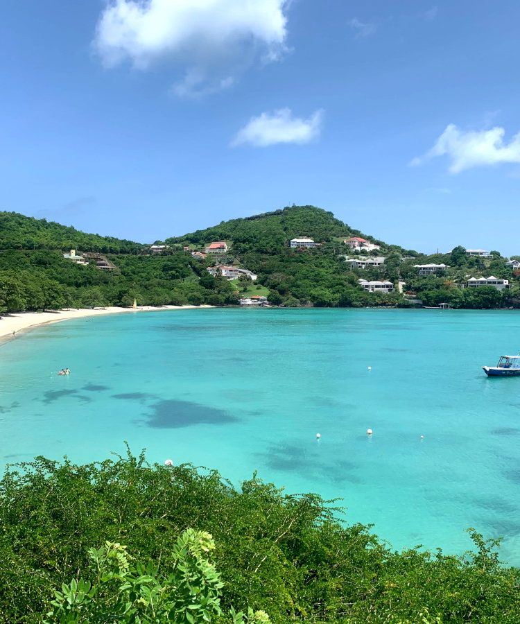
[[[359,235],[312,206],[293,206],[250,218],[233,219],[185,236],[166,239],[164,254],[153,256],[145,245],[84,234],[46,220],[15,213],[0,213],[0,312],[60,308],[64,306],[212,304],[232,305],[239,295],[262,294],[272,305],[292,306],[426,306],[445,302],[456,308],[520,306],[520,281],[499,252],[482,259],[468,257],[465,249],[425,256],[413,250],[375,241],[373,255],[385,257],[383,266],[356,270],[345,257],[356,257],[343,243]],[[291,249],[289,241],[310,236],[319,248]],[[225,240],[227,254],[193,259],[191,250],[204,250],[211,241]],[[183,247],[189,248],[184,251]],[[103,252],[116,266],[98,270],[94,263],[77,266],[62,257],[70,248]],[[367,254],[364,254],[367,255]],[[370,254],[368,254],[370,256]],[[258,281],[229,282],[207,274],[215,263],[234,264],[257,273]],[[442,275],[419,277],[415,264],[444,263]],[[468,277],[494,275],[509,279],[511,288],[463,288]],[[395,292],[367,293],[359,279],[390,280]],[[397,284],[404,281],[406,296]],[[259,286],[260,288],[257,288]],[[257,292],[258,291],[258,292]]]

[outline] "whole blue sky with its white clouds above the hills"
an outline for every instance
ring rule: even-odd
[[[0,209],[151,242],[313,204],[405,248],[518,254],[519,18],[514,0],[6,3]]]

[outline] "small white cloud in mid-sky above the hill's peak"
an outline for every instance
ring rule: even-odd
[[[252,117],[239,130],[232,146],[250,144],[255,147],[268,147],[279,143],[309,143],[320,136],[322,120],[322,110],[317,110],[308,119],[294,117],[289,108],[281,108],[272,113],[263,112],[258,117]]]

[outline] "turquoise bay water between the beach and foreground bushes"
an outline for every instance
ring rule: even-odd
[[[520,379],[480,369],[519,338],[515,311],[204,309],[54,324],[0,345],[0,463],[104,459],[128,440],[149,460],[237,484],[257,469],[288,492],[340,496],[347,521],[374,523],[395,548],[460,553],[469,526],[503,535],[503,557],[520,564]]]

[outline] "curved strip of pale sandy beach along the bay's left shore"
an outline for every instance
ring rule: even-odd
[[[84,318],[87,316],[102,316],[105,314],[121,314],[139,312],[161,312],[166,310],[187,310],[192,308],[211,308],[213,306],[140,306],[138,308],[94,308],[94,309],[67,309],[46,312],[19,312],[0,317],[0,340],[15,338],[19,333],[48,323],[58,323],[73,318]],[[14,332],[14,333],[13,333]]]

